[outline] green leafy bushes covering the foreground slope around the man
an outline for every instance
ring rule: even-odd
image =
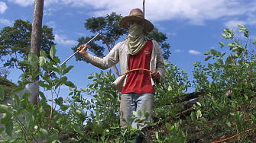
[[[185,71],[176,65],[166,63],[166,75],[162,81],[167,92],[157,85],[152,122],[147,122],[146,142],[209,142],[233,136],[230,141],[253,142],[255,132],[255,52],[256,41],[251,42],[249,31],[239,25],[245,35],[245,42],[235,39],[233,30],[225,29],[222,37],[228,40],[228,52],[215,49],[205,52],[207,64],[194,63],[192,84]],[[221,48],[225,43],[219,42]],[[0,105],[0,120],[7,135],[2,142],[131,142],[139,129],[121,129],[119,126],[120,96],[112,86],[115,75],[112,71],[101,71],[89,75],[92,82],[86,88],[78,89],[68,81],[66,73],[73,66],[56,66],[60,63],[54,46],[50,50],[53,61],[30,53],[28,60],[19,64],[28,71],[21,75],[21,81],[12,91],[15,94],[40,76],[38,81],[44,91],[56,94],[50,101],[58,106],[47,104],[44,92],[39,92],[40,102],[33,105],[28,101],[29,93],[22,98],[14,95],[11,106]],[[38,68],[40,72],[38,72]],[[48,72],[56,74],[49,76]],[[31,78],[29,78],[31,77]],[[70,87],[69,97],[59,97],[61,86]],[[185,101],[188,87],[199,93],[196,99]],[[0,88],[1,94],[4,93]],[[92,98],[84,98],[87,94]],[[53,97],[53,96],[52,96]],[[53,109],[54,107],[54,109]],[[147,113],[132,117],[136,122],[147,119]]]

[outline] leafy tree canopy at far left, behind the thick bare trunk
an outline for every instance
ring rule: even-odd
[[[32,24],[18,19],[12,27],[4,27],[0,31],[0,59],[6,68],[19,68],[18,61],[26,58],[31,48]],[[53,46],[53,28],[42,27],[41,49],[49,54]]]

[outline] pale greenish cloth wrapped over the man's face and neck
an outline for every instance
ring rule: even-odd
[[[137,54],[147,43],[147,39],[144,37],[143,29],[144,28],[138,24],[133,24],[131,27],[129,27],[128,38],[126,40],[129,54]]]

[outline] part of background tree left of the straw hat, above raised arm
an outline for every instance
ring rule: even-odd
[[[107,14],[105,17],[91,17],[86,19],[84,26],[86,30],[90,30],[92,33],[102,32],[101,37],[97,37],[94,41],[99,41],[104,39],[109,44],[109,48],[112,49],[115,46],[116,41],[122,37],[127,30],[119,27],[118,21],[122,18],[120,14],[112,12],[112,14]],[[77,46],[72,49],[76,51],[76,48],[86,42],[88,42],[92,37],[79,37]],[[104,43],[104,42],[102,42]],[[89,43],[88,48],[93,54],[99,57],[103,57],[104,47],[96,44],[95,42]],[[85,60],[83,56],[76,54],[76,60]]]

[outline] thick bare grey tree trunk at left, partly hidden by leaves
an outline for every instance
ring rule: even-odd
[[[42,21],[44,11],[44,0],[34,1],[34,16],[31,33],[31,52],[34,52],[36,56],[39,56],[41,48],[41,35],[42,35]],[[37,77],[31,84],[28,85],[28,91],[31,93],[29,100],[33,104],[37,104],[38,98],[38,85],[39,77]]]

